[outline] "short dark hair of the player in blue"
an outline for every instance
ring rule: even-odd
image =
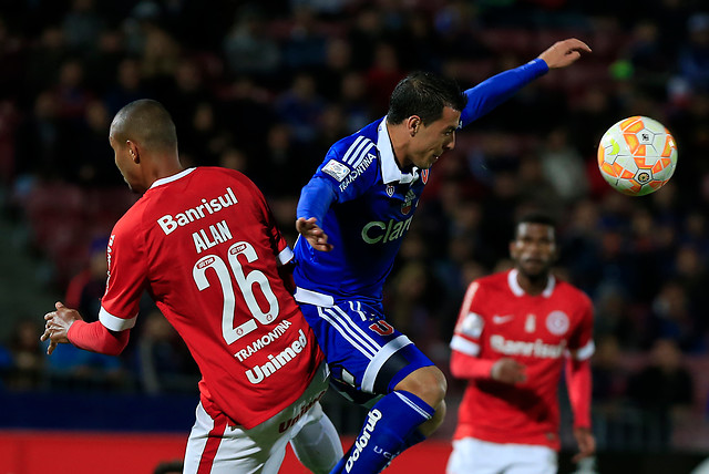
[[[399,124],[411,115],[419,115],[424,125],[443,115],[444,107],[462,112],[467,95],[452,79],[432,72],[414,72],[402,79],[389,99],[387,121]]]

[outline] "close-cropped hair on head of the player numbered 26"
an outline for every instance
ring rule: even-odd
[[[151,148],[177,147],[177,132],[169,112],[151,99],[133,101],[121,109],[113,118],[111,131],[119,143],[138,140]]]

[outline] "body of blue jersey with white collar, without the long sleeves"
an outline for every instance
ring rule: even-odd
[[[310,183],[319,181],[335,192],[319,223],[333,248],[318,251],[298,239],[298,287],[380,301],[427,177],[428,171],[399,169],[383,118],[337,142]]]

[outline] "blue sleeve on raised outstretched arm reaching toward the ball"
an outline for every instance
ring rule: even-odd
[[[461,114],[461,126],[466,126],[510,99],[520,89],[544,75],[549,68],[535,59],[520,68],[511,69],[481,82],[465,91],[467,105]]]

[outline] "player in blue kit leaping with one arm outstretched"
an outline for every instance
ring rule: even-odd
[[[382,286],[429,178],[455,146],[455,131],[549,69],[589,48],[569,39],[537,59],[461,92],[452,80],[414,73],[394,89],[386,117],[337,142],[304,187],[296,228],[296,300],[315,329],[333,384],[371,408],[335,473],[377,473],[443,421],[446,382],[384,320]]]

